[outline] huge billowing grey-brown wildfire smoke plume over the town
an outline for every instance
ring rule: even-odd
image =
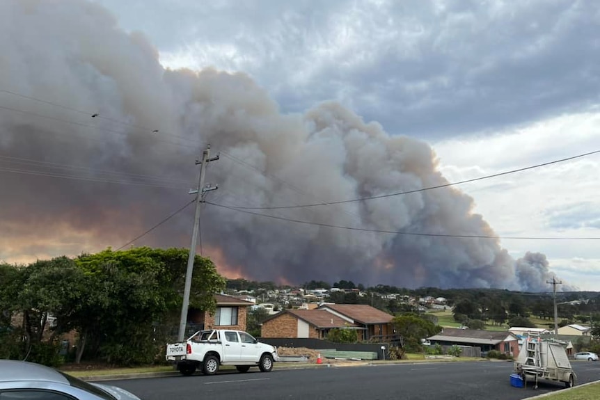
[[[426,143],[390,136],[339,104],[282,115],[244,74],[164,70],[143,34],[120,30],[93,3],[1,1],[0,49],[0,259],[10,262],[127,243],[192,200],[187,189],[206,143],[212,155],[221,151],[207,170],[207,182],[219,184],[208,200],[227,206],[447,183]],[[473,199],[448,187],[251,212],[368,230],[494,235],[472,210]],[[189,207],[134,245],[189,246],[192,216]],[[340,230],[212,205],[202,227],[203,252],[221,272],[255,280],[540,291],[553,276],[544,255],[515,261],[495,239]]]

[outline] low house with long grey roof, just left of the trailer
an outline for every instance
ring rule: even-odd
[[[481,351],[497,350],[514,357],[519,355],[519,338],[506,331],[443,328],[427,339],[441,346],[474,346],[480,347]]]

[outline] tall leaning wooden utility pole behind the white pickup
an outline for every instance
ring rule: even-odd
[[[185,327],[187,325],[187,310],[189,308],[189,292],[191,291],[191,275],[194,271],[194,259],[196,258],[196,246],[198,245],[198,230],[200,228],[200,204],[203,202],[203,195],[207,191],[219,189],[218,186],[204,186],[204,177],[206,174],[206,165],[210,161],[216,161],[219,156],[210,158],[210,145],[207,146],[202,154],[202,161],[196,161],[200,164],[200,177],[198,178],[198,189],[192,189],[189,194],[196,194],[196,213],[194,214],[194,230],[191,233],[191,244],[189,246],[189,256],[187,257],[187,271],[185,273],[185,288],[183,291],[183,305],[181,307],[181,319],[179,321],[179,335],[177,340],[183,342],[185,336]]]

